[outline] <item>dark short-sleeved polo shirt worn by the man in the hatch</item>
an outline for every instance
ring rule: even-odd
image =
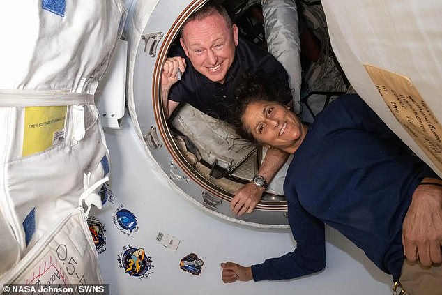
[[[187,68],[181,81],[176,82],[170,89],[169,100],[189,103],[213,118],[224,121],[229,119],[228,109],[234,105],[234,85],[245,71],[252,73],[262,71],[270,75],[275,83],[287,87],[287,93],[290,93],[289,77],[281,63],[266,50],[241,38],[236,46],[234,62],[227,72],[224,84],[212,82],[197,72],[185,55],[183,48],[177,47],[170,56],[183,56]],[[290,100],[291,96],[283,99],[286,103]]]

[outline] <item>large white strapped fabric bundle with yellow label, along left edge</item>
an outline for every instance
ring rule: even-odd
[[[78,240],[82,255],[95,251],[85,220],[79,222],[85,218],[79,198],[109,174],[93,94],[121,35],[125,8],[119,0],[3,4],[0,25],[9,44],[0,49],[0,235],[7,245],[0,248],[0,282],[29,282],[33,264],[19,262],[33,260],[38,268],[35,257],[45,257],[36,250],[47,251],[54,241],[68,247]],[[72,239],[63,242],[54,231],[70,223]],[[78,264],[89,262],[93,255]]]

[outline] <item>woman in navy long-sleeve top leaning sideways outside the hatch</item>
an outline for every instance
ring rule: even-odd
[[[271,101],[252,100],[236,109],[239,133],[294,154],[284,192],[296,249],[251,267],[222,264],[224,282],[282,280],[321,271],[327,224],[400,281],[408,294],[441,294],[442,180],[362,99],[337,98],[310,126]],[[427,208],[422,211],[419,203]],[[422,219],[415,226],[436,239],[415,253],[409,249],[405,259],[402,227],[406,230],[404,220],[416,210]],[[416,252],[420,264],[410,261]]]

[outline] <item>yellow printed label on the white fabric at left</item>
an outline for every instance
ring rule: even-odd
[[[45,151],[64,141],[68,107],[26,107],[22,156]]]

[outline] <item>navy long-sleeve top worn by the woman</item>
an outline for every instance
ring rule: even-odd
[[[321,112],[287,171],[284,193],[294,252],[252,266],[257,280],[297,278],[326,266],[324,224],[398,280],[402,223],[424,177],[438,176],[356,95]]]

